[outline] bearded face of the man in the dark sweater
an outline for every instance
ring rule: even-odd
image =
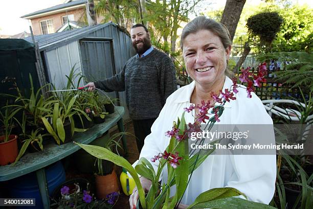
[[[130,30],[131,43],[139,55],[142,55],[151,47],[150,34],[143,27]]]

